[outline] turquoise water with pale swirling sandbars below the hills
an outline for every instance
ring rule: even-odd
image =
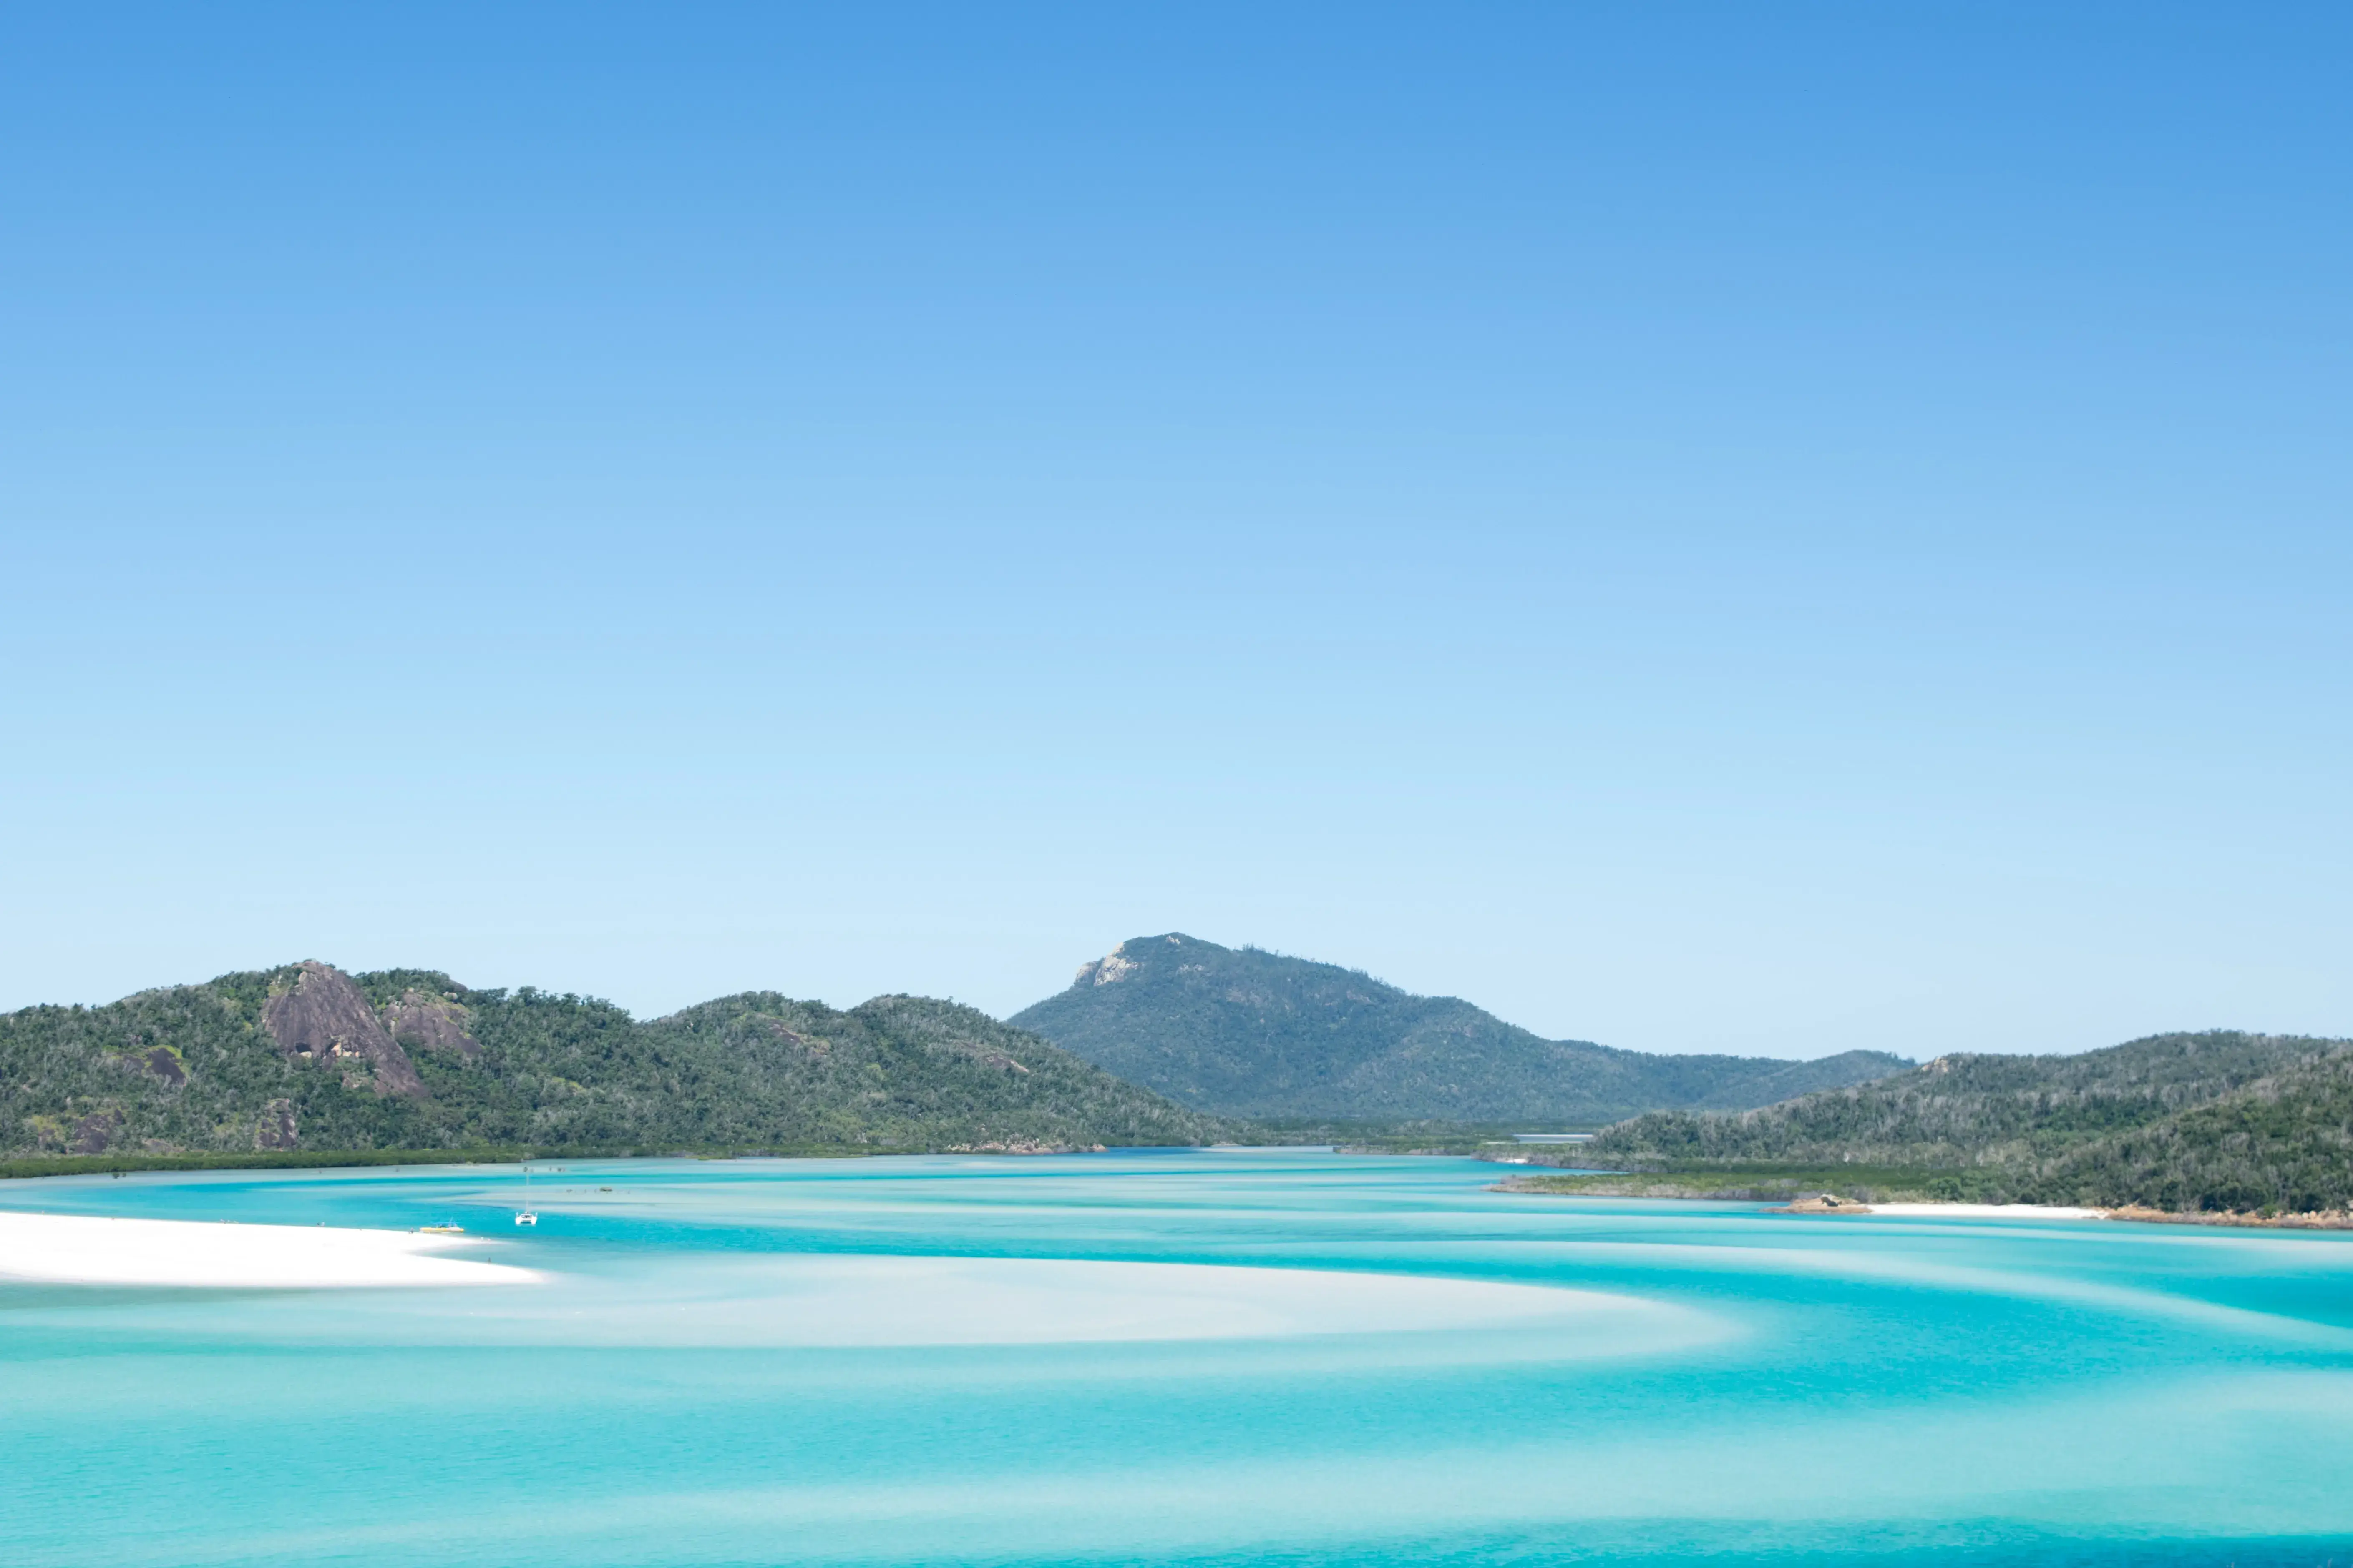
[[[489,1168],[9,1182],[548,1279],[0,1284],[0,1561],[2353,1561],[2348,1237],[1497,1175],[619,1161],[536,1232]]]

